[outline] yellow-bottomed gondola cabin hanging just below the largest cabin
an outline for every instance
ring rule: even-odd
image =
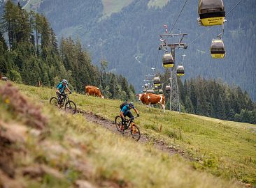
[[[211,56],[213,58],[224,58],[226,55],[224,42],[221,39],[213,39],[211,43]]]

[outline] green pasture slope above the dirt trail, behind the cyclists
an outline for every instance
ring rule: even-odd
[[[47,101],[51,95],[54,95],[54,91],[48,88],[18,86],[23,93],[33,97],[34,100]],[[101,100],[78,94],[72,95],[71,99],[80,109],[92,111],[97,116],[103,116],[108,120],[113,120],[119,113],[120,101],[117,100]],[[210,172],[226,180],[235,178],[255,184],[255,125],[185,113],[169,111],[162,113],[159,109],[147,111],[138,103],[136,107],[141,113],[136,123],[143,135],[151,139],[147,144],[150,146],[149,150],[155,150],[151,146],[154,143],[162,142],[168,148],[173,148],[192,158],[192,162],[189,163],[194,169]],[[74,117],[78,118],[80,115]]]

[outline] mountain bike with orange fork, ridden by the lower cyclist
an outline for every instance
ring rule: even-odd
[[[135,116],[134,118],[137,118]],[[119,132],[125,133],[126,130],[131,132],[131,137],[138,141],[141,139],[141,132],[138,129],[138,126],[134,123],[134,118],[129,118],[129,120],[125,119],[125,125],[122,125],[122,118],[121,116],[115,116],[115,126]],[[128,123],[128,125],[127,125]]]

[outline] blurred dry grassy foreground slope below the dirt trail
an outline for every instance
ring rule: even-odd
[[[15,86],[29,98],[0,81],[3,187],[240,187],[195,171],[184,159],[150,143],[137,144],[80,114],[53,109],[48,88]]]

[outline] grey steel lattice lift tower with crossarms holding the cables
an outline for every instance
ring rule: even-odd
[[[164,51],[167,51],[168,47],[171,49],[171,55],[173,56],[173,62],[174,65],[171,68],[171,75],[170,75],[170,86],[171,86],[171,92],[170,92],[170,111],[178,111],[180,113],[180,99],[178,95],[178,81],[177,81],[177,72],[176,72],[176,63],[175,63],[175,50],[176,49],[187,49],[187,45],[182,42],[184,36],[186,36],[187,33],[179,33],[179,34],[163,34],[158,35],[161,39],[160,41],[162,44],[160,45],[159,49],[163,49]],[[167,38],[176,38],[178,37],[178,42],[174,43],[167,43]]]

